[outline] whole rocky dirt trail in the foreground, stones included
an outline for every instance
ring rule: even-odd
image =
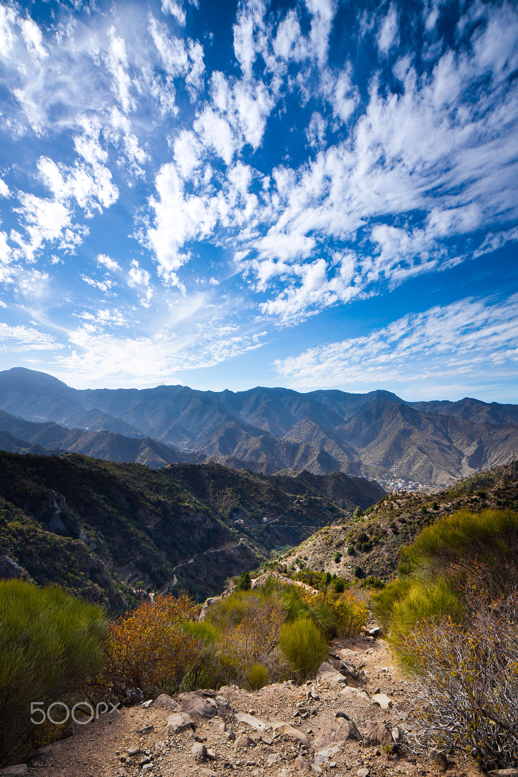
[[[72,724],[71,737],[38,751],[19,772],[5,774],[436,777],[443,766],[426,757],[416,760],[405,748],[412,737],[413,691],[383,640],[335,639],[315,681],[277,683],[251,693],[231,685],[173,699],[162,695],[147,707]],[[384,744],[395,745],[398,754],[385,754]],[[468,766],[450,763],[447,773],[468,777]]]

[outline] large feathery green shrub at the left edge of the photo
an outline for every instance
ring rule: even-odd
[[[0,581],[0,763],[35,726],[30,703],[66,698],[103,664],[106,618],[60,588]]]

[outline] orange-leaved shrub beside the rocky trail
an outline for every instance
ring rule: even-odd
[[[200,639],[182,629],[196,617],[186,596],[157,596],[110,625],[106,665],[100,678],[121,699],[140,688],[144,695],[178,692],[202,668]]]

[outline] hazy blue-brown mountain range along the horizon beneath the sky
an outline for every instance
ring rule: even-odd
[[[5,450],[155,468],[217,462],[265,475],[340,471],[385,485],[446,486],[518,456],[518,405],[406,402],[383,390],[73,389],[12,368],[0,372],[0,409]]]

